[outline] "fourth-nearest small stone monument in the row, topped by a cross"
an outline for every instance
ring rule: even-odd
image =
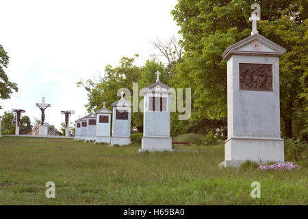
[[[105,107],[97,110],[97,143],[110,143],[110,120],[112,112]]]

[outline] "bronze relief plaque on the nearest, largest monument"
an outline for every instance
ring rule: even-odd
[[[240,90],[272,91],[272,64],[240,63]]]

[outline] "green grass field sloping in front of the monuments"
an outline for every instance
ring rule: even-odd
[[[138,153],[68,139],[0,139],[0,205],[307,205],[301,170],[218,169],[224,146]],[[306,163],[307,164],[307,163]],[[55,183],[55,198],[45,184]],[[251,183],[261,198],[251,198]]]

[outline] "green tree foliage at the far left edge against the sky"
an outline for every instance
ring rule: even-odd
[[[13,90],[18,91],[17,83],[10,82],[3,69],[8,68],[9,58],[0,44],[0,99],[10,99],[10,94],[12,94]]]

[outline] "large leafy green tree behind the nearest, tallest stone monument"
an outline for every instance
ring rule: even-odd
[[[250,36],[248,18],[253,3],[261,5],[259,34],[287,49],[280,60],[281,125],[284,136],[294,136],[293,131],[296,127],[303,129],[303,118],[308,117],[304,110],[307,107],[308,37],[307,10],[304,10],[307,1],[179,0],[172,15],[181,27],[185,54],[172,80],[177,86],[192,88],[193,120],[226,118],[227,67],[221,54],[231,44]]]

